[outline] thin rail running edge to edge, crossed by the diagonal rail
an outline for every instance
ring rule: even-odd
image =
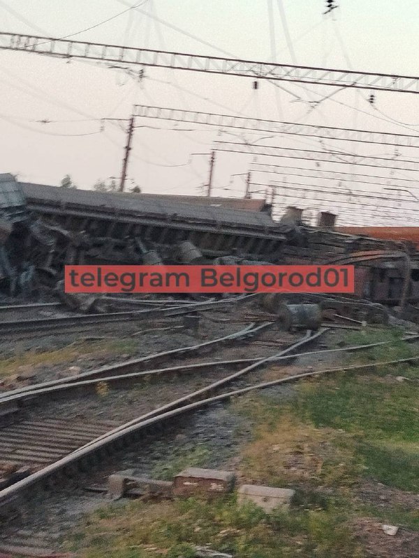
[[[406,338],[402,338],[402,340],[406,342],[411,342],[419,339],[419,335],[410,335]],[[318,351],[309,351],[309,352],[302,352],[297,354],[288,354],[284,356],[269,356],[267,360],[274,363],[280,363],[281,361],[288,361],[291,359],[297,359],[299,356],[312,356],[312,355],[320,355],[320,354],[328,354],[328,353],[337,353],[337,352],[351,352],[351,351],[362,351],[367,349],[372,349],[374,347],[381,347],[382,345],[390,345],[392,341],[378,341],[375,343],[369,343],[367,345],[352,345],[351,347],[339,347],[338,349],[321,349]],[[256,361],[259,361],[258,357],[253,359],[233,359],[228,361],[210,361],[210,362],[203,362],[203,363],[193,363],[193,364],[185,364],[185,365],[177,365],[177,366],[170,366],[168,368],[156,368],[154,370],[143,370],[142,372],[131,372],[128,374],[122,374],[117,376],[105,376],[101,378],[95,379],[88,379],[82,380],[81,382],[72,382],[72,383],[64,383],[59,384],[58,386],[48,386],[49,382],[43,382],[42,384],[36,384],[31,386],[31,390],[26,391],[24,393],[20,392],[19,390],[8,391],[6,393],[0,394],[0,407],[3,404],[16,402],[23,400],[24,398],[33,398],[36,396],[43,396],[43,395],[50,395],[51,393],[57,393],[60,391],[72,391],[74,389],[80,389],[83,387],[88,386],[95,386],[100,382],[106,383],[118,383],[123,382],[124,380],[135,380],[141,379],[143,377],[154,377],[160,375],[176,375],[179,372],[184,373],[191,373],[191,372],[200,372],[201,370],[209,370],[211,368],[219,368],[225,366],[234,366],[234,365],[242,365],[242,364],[251,364]],[[69,377],[67,379],[71,379]],[[64,378],[66,379],[66,378]]]

